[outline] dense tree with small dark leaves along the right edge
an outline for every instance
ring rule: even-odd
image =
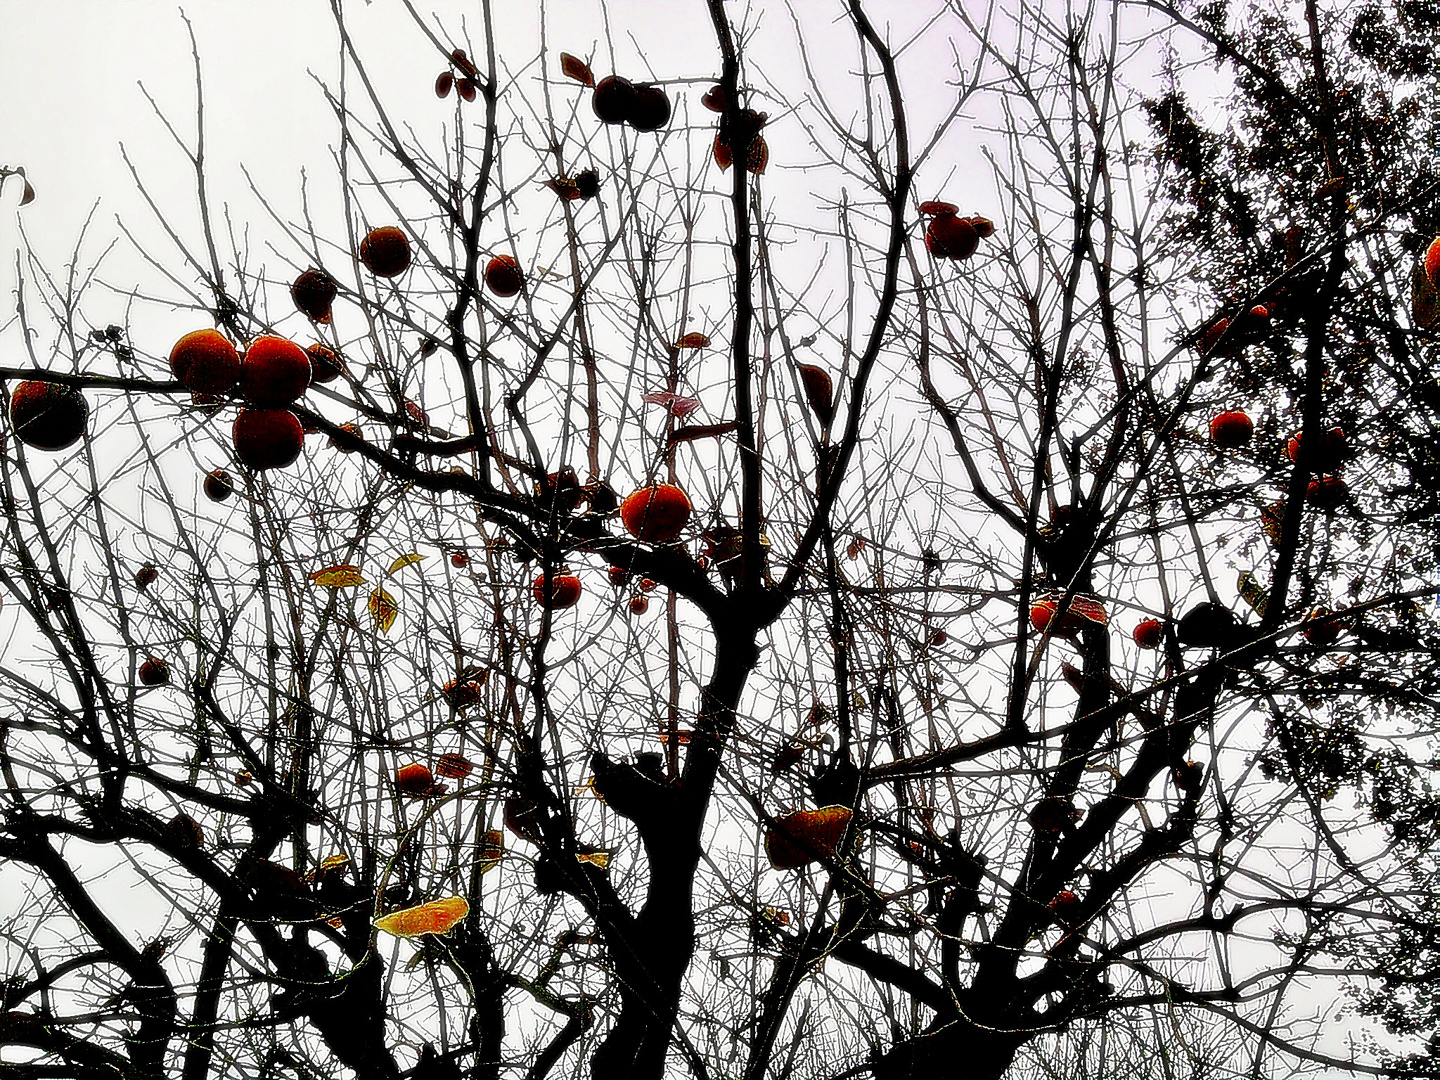
[[[1286,516],[1276,580],[1289,580],[1302,609],[1433,586],[1440,397],[1426,255],[1440,232],[1440,173],[1426,84],[1440,13],[1404,0],[1306,3],[1296,24],[1264,4],[1153,7],[1234,76],[1234,122],[1223,134],[1197,118],[1178,75],[1146,107],[1172,164],[1174,243],[1204,252],[1200,276],[1218,305],[1260,298],[1290,331],[1237,354],[1231,377],[1293,418],[1302,442],[1341,425],[1364,446],[1346,468],[1361,475],[1351,488],[1372,495],[1346,498],[1322,544],[1299,514]],[[1274,485],[1284,505],[1299,501],[1300,472],[1280,474],[1283,491]],[[1375,605],[1355,625],[1348,664],[1279,697],[1279,742],[1261,759],[1272,775],[1319,782],[1322,795],[1356,789],[1382,822],[1404,864],[1395,887],[1377,890],[1384,917],[1361,932],[1318,913],[1312,933],[1319,949],[1381,972],[1354,988],[1361,1009],[1405,1034],[1440,1018],[1437,806],[1421,765],[1436,733],[1431,596]],[[1408,739],[1427,750],[1401,749]]]

